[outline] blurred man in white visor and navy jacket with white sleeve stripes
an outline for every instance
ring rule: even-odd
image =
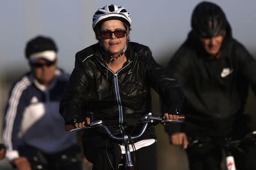
[[[69,75],[57,69],[57,46],[44,36],[27,42],[31,71],[11,88],[3,142],[19,170],[81,169],[76,134],[67,133],[59,101]]]

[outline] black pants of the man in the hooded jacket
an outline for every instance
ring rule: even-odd
[[[236,168],[238,170],[256,170],[256,147],[249,146],[245,152],[232,152]],[[222,152],[218,146],[205,146],[202,148],[187,148],[188,162],[190,170],[220,170],[222,163]]]

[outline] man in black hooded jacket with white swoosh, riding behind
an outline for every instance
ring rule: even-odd
[[[170,141],[187,148],[190,139],[195,138],[216,143],[227,137],[241,138],[251,130],[247,128],[245,104],[249,85],[256,93],[255,59],[233,39],[228,20],[216,4],[199,3],[193,10],[191,26],[187,40],[168,64],[169,73],[181,85],[186,99],[186,122],[167,129]],[[186,151],[191,169],[220,168],[218,145],[188,147]],[[245,156],[236,160],[235,155],[237,167],[256,169],[254,161],[243,163],[250,159]]]

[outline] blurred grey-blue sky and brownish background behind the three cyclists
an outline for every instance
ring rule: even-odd
[[[94,12],[106,4],[124,6],[132,19],[131,41],[147,45],[162,66],[187,37],[193,8],[200,1],[63,1],[0,0],[0,135],[3,108],[11,84],[28,71],[24,58],[27,40],[37,35],[51,36],[59,46],[59,67],[71,72],[75,53],[96,42],[92,30]],[[233,36],[256,56],[256,1],[212,1],[225,11]],[[155,113],[159,97],[153,91]],[[255,96],[250,93],[247,111],[255,124]],[[163,126],[158,133],[158,169],[187,169],[187,158],[180,147],[169,145]],[[1,139],[0,139],[1,142]]]

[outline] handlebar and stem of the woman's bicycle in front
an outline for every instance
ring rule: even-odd
[[[126,162],[125,162],[125,167],[128,170],[133,170],[134,169],[134,164],[131,160],[131,152],[130,152],[130,147],[129,147],[129,138],[130,139],[136,139],[141,137],[141,135],[146,131],[148,124],[156,122],[156,123],[161,123],[161,124],[169,124],[169,123],[182,123],[184,120],[184,116],[180,115],[180,120],[165,120],[163,117],[159,116],[154,116],[152,113],[148,113],[145,116],[141,118],[141,123],[143,124],[141,131],[132,136],[128,135],[122,135],[122,136],[116,136],[110,131],[108,126],[104,125],[104,122],[102,120],[94,121],[92,122],[89,126],[84,126],[82,128],[76,128],[70,130],[72,131],[79,131],[79,130],[85,130],[85,129],[92,129],[92,128],[99,128],[102,127],[105,129],[106,133],[109,135],[110,138],[114,139],[115,141],[121,141],[125,143],[125,157],[126,157]]]

